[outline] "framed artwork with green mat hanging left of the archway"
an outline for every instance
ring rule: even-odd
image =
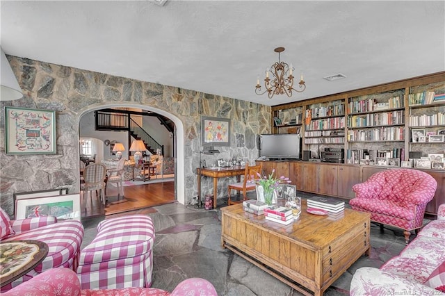
[[[5,110],[6,154],[56,154],[56,111]]]

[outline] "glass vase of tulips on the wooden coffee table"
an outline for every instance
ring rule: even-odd
[[[257,173],[254,181],[257,184],[257,199],[260,202],[265,202],[266,204],[276,204],[277,203],[277,195],[275,193],[275,189],[277,189],[278,185],[281,183],[291,183],[289,178],[285,176],[280,176],[280,178],[276,178],[275,169],[266,176]]]

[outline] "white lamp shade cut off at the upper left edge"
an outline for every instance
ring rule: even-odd
[[[13,101],[16,99],[22,99],[22,89],[19,86],[15,74],[8,59],[6,58],[3,49],[1,49],[1,74],[0,74],[0,101]]]

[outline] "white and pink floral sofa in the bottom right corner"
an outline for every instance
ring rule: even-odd
[[[350,283],[350,295],[438,295],[428,286],[445,261],[445,220],[433,220],[405,249],[377,268],[359,268]],[[445,276],[445,274],[443,275]],[[440,277],[440,275],[439,275]]]

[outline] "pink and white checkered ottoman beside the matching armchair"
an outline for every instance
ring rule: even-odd
[[[152,285],[154,226],[146,215],[99,222],[97,236],[82,249],[77,275],[82,289]]]

